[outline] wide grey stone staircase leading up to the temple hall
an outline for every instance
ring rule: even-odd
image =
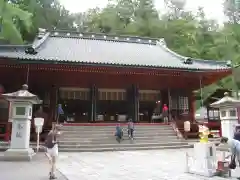
[[[135,139],[129,140],[126,126],[124,140],[116,141],[115,126],[62,126],[59,150],[62,152],[101,152],[189,148],[178,139],[170,125],[135,125]]]

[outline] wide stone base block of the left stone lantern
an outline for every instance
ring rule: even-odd
[[[8,149],[4,152],[4,161],[31,161],[35,152],[32,148],[29,149]]]

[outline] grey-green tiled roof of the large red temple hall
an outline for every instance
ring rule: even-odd
[[[26,53],[32,47],[36,53]],[[227,70],[226,62],[197,60],[176,54],[163,39],[113,36],[94,33],[45,32],[32,45],[0,45],[0,57],[59,63],[171,68],[185,70]],[[191,59],[192,63],[184,63]]]

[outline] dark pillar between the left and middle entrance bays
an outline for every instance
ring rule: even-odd
[[[91,108],[90,108],[90,122],[96,122],[97,119],[97,100],[98,100],[98,88],[95,84],[93,84],[90,88],[90,100],[91,100]]]

